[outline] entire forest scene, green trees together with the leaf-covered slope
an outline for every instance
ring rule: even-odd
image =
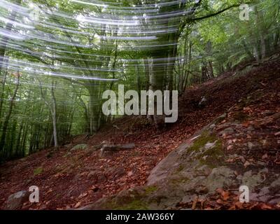
[[[0,0],[0,208],[279,209],[279,10],[275,0]],[[203,160],[207,179],[188,176],[183,158]],[[253,202],[236,202],[237,180],[258,188]],[[40,202],[8,197],[30,186]],[[201,189],[155,206],[161,186]],[[130,188],[141,198],[117,207]]]

